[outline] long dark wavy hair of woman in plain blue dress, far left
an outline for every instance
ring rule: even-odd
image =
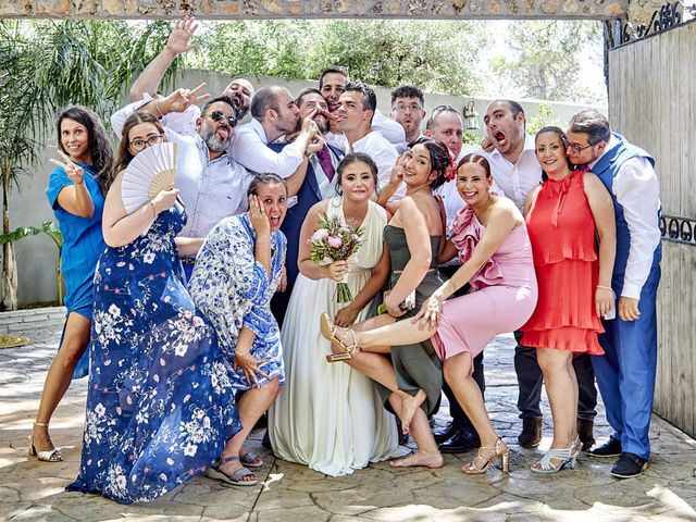
[[[55,121],[55,129],[58,133],[58,147],[66,156],[70,152],[63,147],[61,139],[61,124],[63,120],[73,120],[87,128],[87,149],[91,159],[91,166],[97,173],[97,183],[102,194],[107,194],[111,186],[112,167],[113,167],[113,150],[107,138],[107,130],[99,120],[99,116],[83,105],[72,105],[64,109]]]

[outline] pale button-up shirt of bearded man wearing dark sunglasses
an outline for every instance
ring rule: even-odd
[[[130,103],[111,116],[114,132],[121,134],[126,119],[142,101]],[[224,153],[210,160],[203,139],[182,136],[171,128],[164,132],[170,141],[178,145],[175,186],[186,209],[186,225],[178,234],[182,237],[206,237],[222,220],[247,210],[247,188],[252,174]]]

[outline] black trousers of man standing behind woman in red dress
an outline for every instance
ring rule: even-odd
[[[536,348],[521,346],[522,332],[515,332],[518,346],[514,348],[514,372],[518,374],[520,387],[518,409],[520,419],[542,419],[542,385],[544,375],[536,362]],[[577,419],[592,421],[597,415],[597,388],[595,387],[595,372],[592,359],[587,353],[573,357],[573,368],[577,376]]]

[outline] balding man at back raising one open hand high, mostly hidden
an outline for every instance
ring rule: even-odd
[[[142,70],[130,87],[130,101],[150,101],[158,98],[157,91],[166,70],[176,57],[195,48],[190,39],[198,29],[198,22],[192,16],[185,16],[174,22],[174,28],[166,39],[162,51]],[[229,98],[243,120],[249,112],[254,89],[246,78],[235,78],[222,90],[220,96]],[[197,132],[196,121],[200,117],[200,109],[190,105],[184,112],[173,112],[164,116],[162,124],[185,136],[194,136]]]

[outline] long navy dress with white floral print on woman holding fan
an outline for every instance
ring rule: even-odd
[[[185,219],[162,212],[99,260],[83,455],[69,490],[152,500],[201,473],[241,427],[232,369],[182,283],[174,236]]]

